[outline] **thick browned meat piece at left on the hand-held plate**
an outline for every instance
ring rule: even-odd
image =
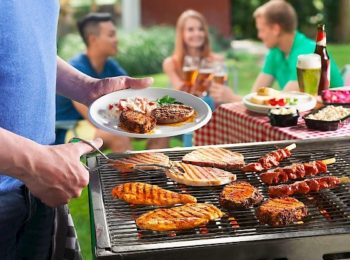
[[[153,116],[141,112],[127,110],[119,117],[120,127],[132,133],[148,133],[156,126],[156,119]]]

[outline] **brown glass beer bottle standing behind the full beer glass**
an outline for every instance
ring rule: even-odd
[[[322,94],[322,90],[328,89],[330,85],[330,71],[331,64],[329,60],[329,55],[327,53],[327,39],[326,30],[324,24],[319,24],[317,26],[317,36],[316,36],[316,48],[315,53],[321,56],[321,78],[318,85],[318,94]]]

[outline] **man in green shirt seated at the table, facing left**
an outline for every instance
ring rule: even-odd
[[[284,0],[271,0],[254,12],[258,37],[269,52],[253,92],[259,87],[271,87],[277,80],[280,89],[299,90],[296,64],[300,54],[313,53],[315,42],[298,32],[294,8]],[[337,65],[331,58],[331,87],[343,86]]]

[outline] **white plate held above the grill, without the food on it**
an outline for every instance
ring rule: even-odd
[[[165,95],[169,95],[177,101],[193,107],[197,113],[194,122],[184,123],[179,126],[157,125],[151,133],[138,134],[121,129],[118,126],[118,120],[112,119],[107,113],[108,105],[117,103],[122,98],[146,97],[150,101],[155,101]],[[116,135],[136,138],[158,138],[185,134],[204,126],[211,118],[211,109],[202,99],[183,91],[162,88],[125,89],[107,94],[95,100],[89,107],[89,118],[98,128]]]

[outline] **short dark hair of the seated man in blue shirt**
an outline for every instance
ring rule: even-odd
[[[109,13],[89,13],[78,21],[78,30],[86,46],[88,46],[89,34],[98,35],[100,33],[99,23],[109,21],[114,23]]]

